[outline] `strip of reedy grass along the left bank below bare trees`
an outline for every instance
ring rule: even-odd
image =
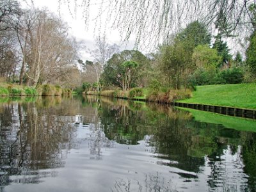
[[[36,88],[30,86],[20,86],[18,84],[0,83],[0,97],[9,96],[58,96],[70,95],[72,90],[61,88],[58,85],[43,84]]]

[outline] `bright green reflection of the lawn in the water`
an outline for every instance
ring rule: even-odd
[[[196,109],[188,109],[188,108],[179,108],[179,109],[189,111],[194,116],[196,121],[210,123],[210,124],[221,124],[224,127],[236,129],[239,131],[256,132],[256,120],[221,115],[221,114],[211,113],[207,111],[199,111]]]

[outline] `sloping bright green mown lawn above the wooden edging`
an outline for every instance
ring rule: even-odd
[[[256,109],[256,84],[196,86],[191,99],[179,102]]]

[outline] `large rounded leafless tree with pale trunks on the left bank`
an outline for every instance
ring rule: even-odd
[[[17,25],[22,51],[20,84],[56,83],[61,68],[74,65],[77,42],[68,36],[68,26],[47,10],[27,10]],[[26,75],[26,76],[25,76]]]

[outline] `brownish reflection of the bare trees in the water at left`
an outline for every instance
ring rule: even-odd
[[[52,115],[45,109],[52,102],[60,101],[48,97],[37,102],[2,104],[1,186],[10,182],[38,183],[44,177],[56,176],[48,169],[64,166],[76,130],[68,124],[70,118]],[[18,176],[11,179],[12,175]]]

